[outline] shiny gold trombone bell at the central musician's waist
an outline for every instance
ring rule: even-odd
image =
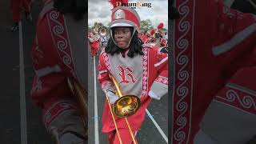
[[[141,102],[135,95],[124,95],[118,98],[113,105],[113,113],[119,118],[126,118],[133,115],[139,108]]]

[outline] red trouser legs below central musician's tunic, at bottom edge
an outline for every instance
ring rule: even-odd
[[[134,143],[133,139],[131,138],[128,128],[127,129],[118,129],[118,131],[119,131],[120,137],[122,139],[122,144]],[[133,130],[134,137],[136,136],[136,133],[137,133],[137,131]],[[113,130],[113,131],[110,131],[109,133],[107,133],[107,139],[108,139],[109,144],[119,144],[120,143],[116,130]],[[137,142],[136,138],[135,138],[135,140]]]

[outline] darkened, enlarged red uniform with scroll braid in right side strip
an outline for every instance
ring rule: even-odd
[[[220,0],[177,0],[176,7],[186,11],[175,20],[170,55],[175,59],[170,143],[196,143],[199,129],[217,143],[246,143],[256,134],[255,17]]]

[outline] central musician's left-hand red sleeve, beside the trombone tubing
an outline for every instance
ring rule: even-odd
[[[104,56],[101,54],[98,61],[98,82],[100,83],[102,90],[114,91],[114,85],[109,77],[109,70],[106,67]]]

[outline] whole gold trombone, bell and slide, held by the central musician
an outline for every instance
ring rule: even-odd
[[[130,124],[127,120],[127,117],[134,114],[140,106],[140,99],[135,96],[135,95],[123,95],[122,91],[121,91],[121,87],[118,85],[117,80],[114,78],[114,76],[112,74],[109,74],[111,81],[114,83],[114,87],[116,89],[116,95],[118,96],[118,100],[116,102],[114,102],[113,107],[110,105],[110,100],[109,98],[106,96],[107,102],[110,106],[110,113],[111,116],[113,118],[114,121],[114,127],[115,130],[118,134],[118,139],[119,142],[122,144],[122,138],[120,137],[119,131],[118,131],[118,126],[117,123],[115,122],[114,119],[114,114],[119,117],[119,118],[125,118],[128,130],[130,132],[131,138],[133,139],[133,142],[135,144],[137,144],[135,138],[134,138],[134,134],[130,128]]]

